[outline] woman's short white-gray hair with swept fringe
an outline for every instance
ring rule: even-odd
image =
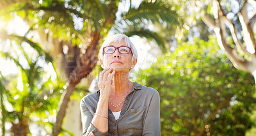
[[[112,42],[121,42],[122,40],[125,41],[125,44],[128,47],[131,47],[132,61],[134,59],[137,59],[138,58],[138,52],[137,52],[135,46],[133,45],[133,43],[131,42],[131,40],[129,39],[129,37],[126,36],[125,34],[115,34],[113,36],[109,36],[108,38],[106,38],[106,40],[102,43],[102,45],[100,47],[99,58],[103,59],[103,48],[104,47],[107,47]]]

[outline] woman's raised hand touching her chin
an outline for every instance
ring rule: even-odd
[[[111,92],[111,79],[115,75],[115,71],[110,73],[112,68],[106,68],[102,72],[100,72],[100,79],[98,82],[98,86],[100,89],[100,96],[106,96],[109,98]]]

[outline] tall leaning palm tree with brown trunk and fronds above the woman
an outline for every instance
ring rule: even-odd
[[[65,110],[75,87],[81,79],[92,72],[97,63],[99,45],[109,31],[124,33],[127,36],[138,35],[154,40],[161,49],[166,49],[163,38],[148,26],[166,25],[166,31],[172,31],[178,24],[177,14],[171,10],[172,5],[163,1],[142,1],[138,8],[131,1],[31,1],[30,3],[14,4],[10,10],[16,11],[31,26],[31,31],[38,31],[41,45],[53,43],[51,48],[63,56],[61,67],[66,68],[68,87],[61,96],[52,129],[52,135],[61,132],[61,124]],[[129,5],[122,11],[120,5]],[[13,8],[14,7],[14,8]],[[6,13],[6,12],[4,12]],[[63,48],[68,52],[62,52]],[[51,54],[51,53],[50,53]],[[55,54],[56,55],[56,54]],[[52,54],[54,56],[54,53]],[[68,57],[72,56],[72,57]]]

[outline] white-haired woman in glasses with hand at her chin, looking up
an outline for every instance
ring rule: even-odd
[[[137,50],[124,34],[107,38],[99,52],[99,91],[81,100],[83,135],[160,135],[159,94],[129,80]]]

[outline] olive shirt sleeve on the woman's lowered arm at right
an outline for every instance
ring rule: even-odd
[[[160,97],[154,90],[154,94],[148,105],[147,114],[144,120],[143,135],[160,135]]]

